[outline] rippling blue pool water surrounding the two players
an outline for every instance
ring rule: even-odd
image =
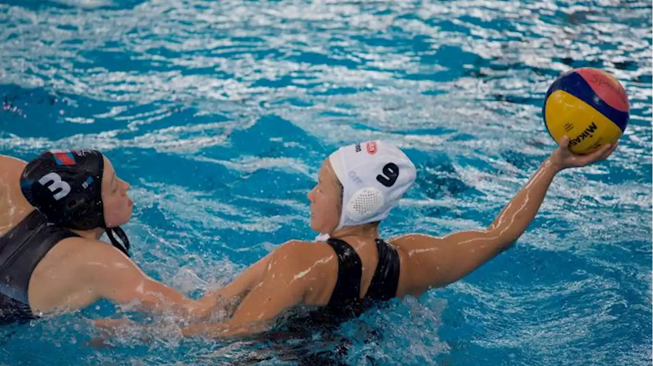
[[[313,238],[306,193],[345,143],[388,139],[419,169],[384,236],[485,227],[554,148],[541,121],[550,82],[612,72],[632,109],[609,161],[559,175],[510,251],[366,315],[383,337],[347,359],[653,363],[647,0],[1,3],[0,154],[103,150],[133,187],[136,262],[192,296]],[[112,314],[101,302],[0,330],[14,332],[0,363],[221,365],[259,352],[163,334],[86,346],[89,319]]]

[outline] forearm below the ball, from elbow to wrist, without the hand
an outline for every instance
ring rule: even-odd
[[[488,232],[499,235],[506,245],[517,240],[535,218],[558,171],[560,168],[550,159],[545,160],[522,190],[494,219],[488,227]]]

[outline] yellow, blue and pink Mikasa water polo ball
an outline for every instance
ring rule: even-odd
[[[630,104],[623,85],[597,68],[577,68],[556,79],[542,114],[553,139],[569,136],[569,150],[590,154],[614,144],[628,125]]]

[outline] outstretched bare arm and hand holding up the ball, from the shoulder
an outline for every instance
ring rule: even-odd
[[[502,253],[526,231],[559,171],[603,160],[616,148],[607,145],[594,154],[579,156],[569,152],[568,143],[566,137],[560,141],[560,147],[485,230],[455,232],[444,237],[411,234],[402,238],[409,263],[408,292],[421,294],[431,287],[458,281]]]

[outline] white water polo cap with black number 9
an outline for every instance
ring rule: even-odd
[[[343,187],[336,230],[385,219],[417,176],[402,150],[379,140],[341,147],[329,162]]]

